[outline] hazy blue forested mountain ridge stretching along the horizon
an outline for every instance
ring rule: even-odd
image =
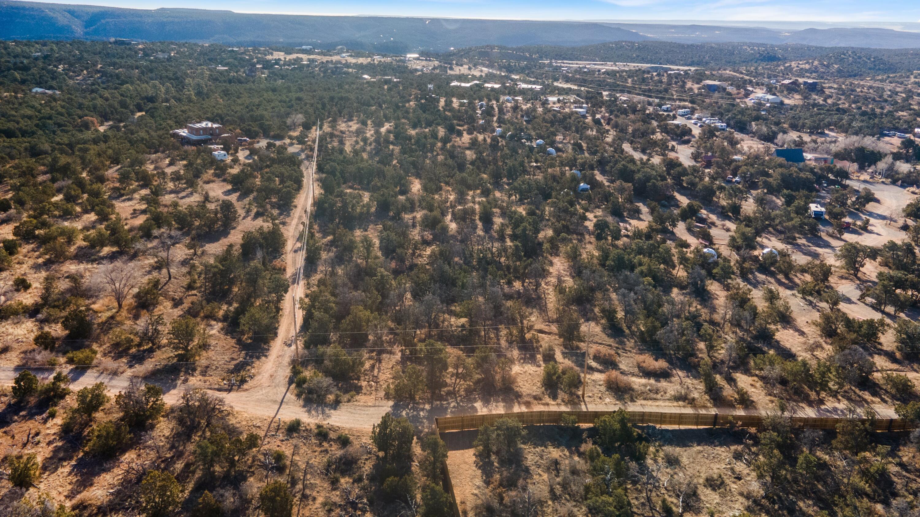
[[[229,45],[348,44],[370,52],[445,52],[480,45],[581,46],[608,41],[802,43],[817,46],[920,48],[920,33],[832,28],[783,31],[757,27],[589,21],[245,14],[223,10],[125,9],[0,0],[3,40],[176,40]]]

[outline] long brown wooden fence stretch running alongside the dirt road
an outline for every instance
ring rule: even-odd
[[[523,425],[558,424],[562,415],[574,415],[581,424],[592,424],[598,417],[614,414],[615,411],[518,411],[514,413],[489,413],[436,417],[434,425],[438,432],[479,429],[504,418],[518,419]],[[697,413],[681,411],[627,411],[629,423],[633,425],[656,425],[669,427],[745,427],[757,428],[764,423],[764,415],[732,413]],[[791,417],[792,427],[799,429],[833,430],[837,424],[848,420],[842,417]],[[865,420],[865,419],[862,419]],[[908,431],[914,424],[906,419],[875,419],[875,431]]]

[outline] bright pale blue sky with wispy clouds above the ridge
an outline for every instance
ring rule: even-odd
[[[237,12],[527,19],[920,21],[920,2],[900,0],[52,0],[133,8]]]

